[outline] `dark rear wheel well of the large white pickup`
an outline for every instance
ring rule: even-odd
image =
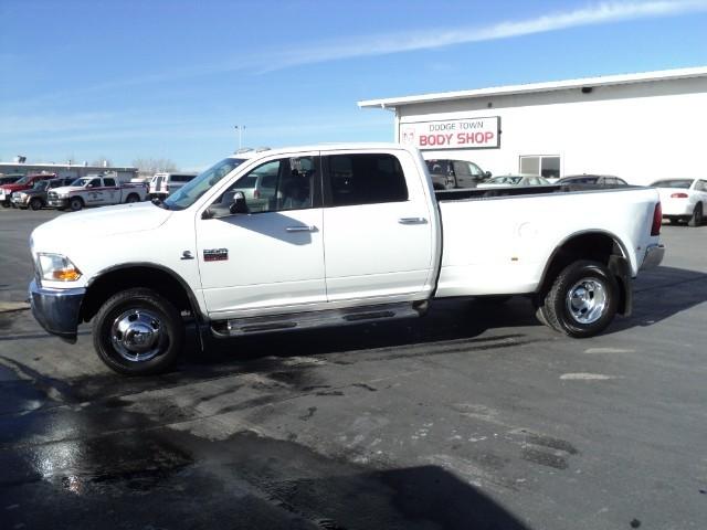
[[[624,312],[627,301],[627,285],[630,278],[625,278],[620,274],[620,267],[613,263],[615,257],[626,257],[621,245],[611,235],[601,232],[591,232],[578,234],[567,240],[560,245],[550,258],[549,265],[546,267],[540,287],[536,294],[538,300],[545,299],[545,296],[552,287],[555,278],[569,264],[578,259],[591,259],[599,262],[609,267],[619,283],[621,290],[619,299],[619,312]]]

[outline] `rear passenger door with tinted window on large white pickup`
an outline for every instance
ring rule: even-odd
[[[410,152],[340,151],[323,161],[328,300],[430,294],[436,218]]]

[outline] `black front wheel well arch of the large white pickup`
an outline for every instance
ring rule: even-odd
[[[197,315],[198,307],[196,303],[192,305],[188,288],[175,276],[150,266],[130,266],[107,272],[92,282],[81,306],[81,320],[87,322],[113,295],[135,287],[152,289],[168,299],[178,311]]]

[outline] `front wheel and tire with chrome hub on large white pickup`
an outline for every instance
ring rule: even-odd
[[[151,289],[135,288],[114,295],[94,319],[93,344],[98,358],[125,375],[168,370],[177,361],[183,341],[179,311]]]

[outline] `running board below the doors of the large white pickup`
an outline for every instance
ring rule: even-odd
[[[397,320],[399,318],[421,317],[428,310],[428,301],[386,304],[349,309],[326,309],[323,311],[271,315],[267,317],[234,318],[211,324],[214,337],[242,337],[270,331],[291,331],[298,329],[346,326],[376,320]]]

